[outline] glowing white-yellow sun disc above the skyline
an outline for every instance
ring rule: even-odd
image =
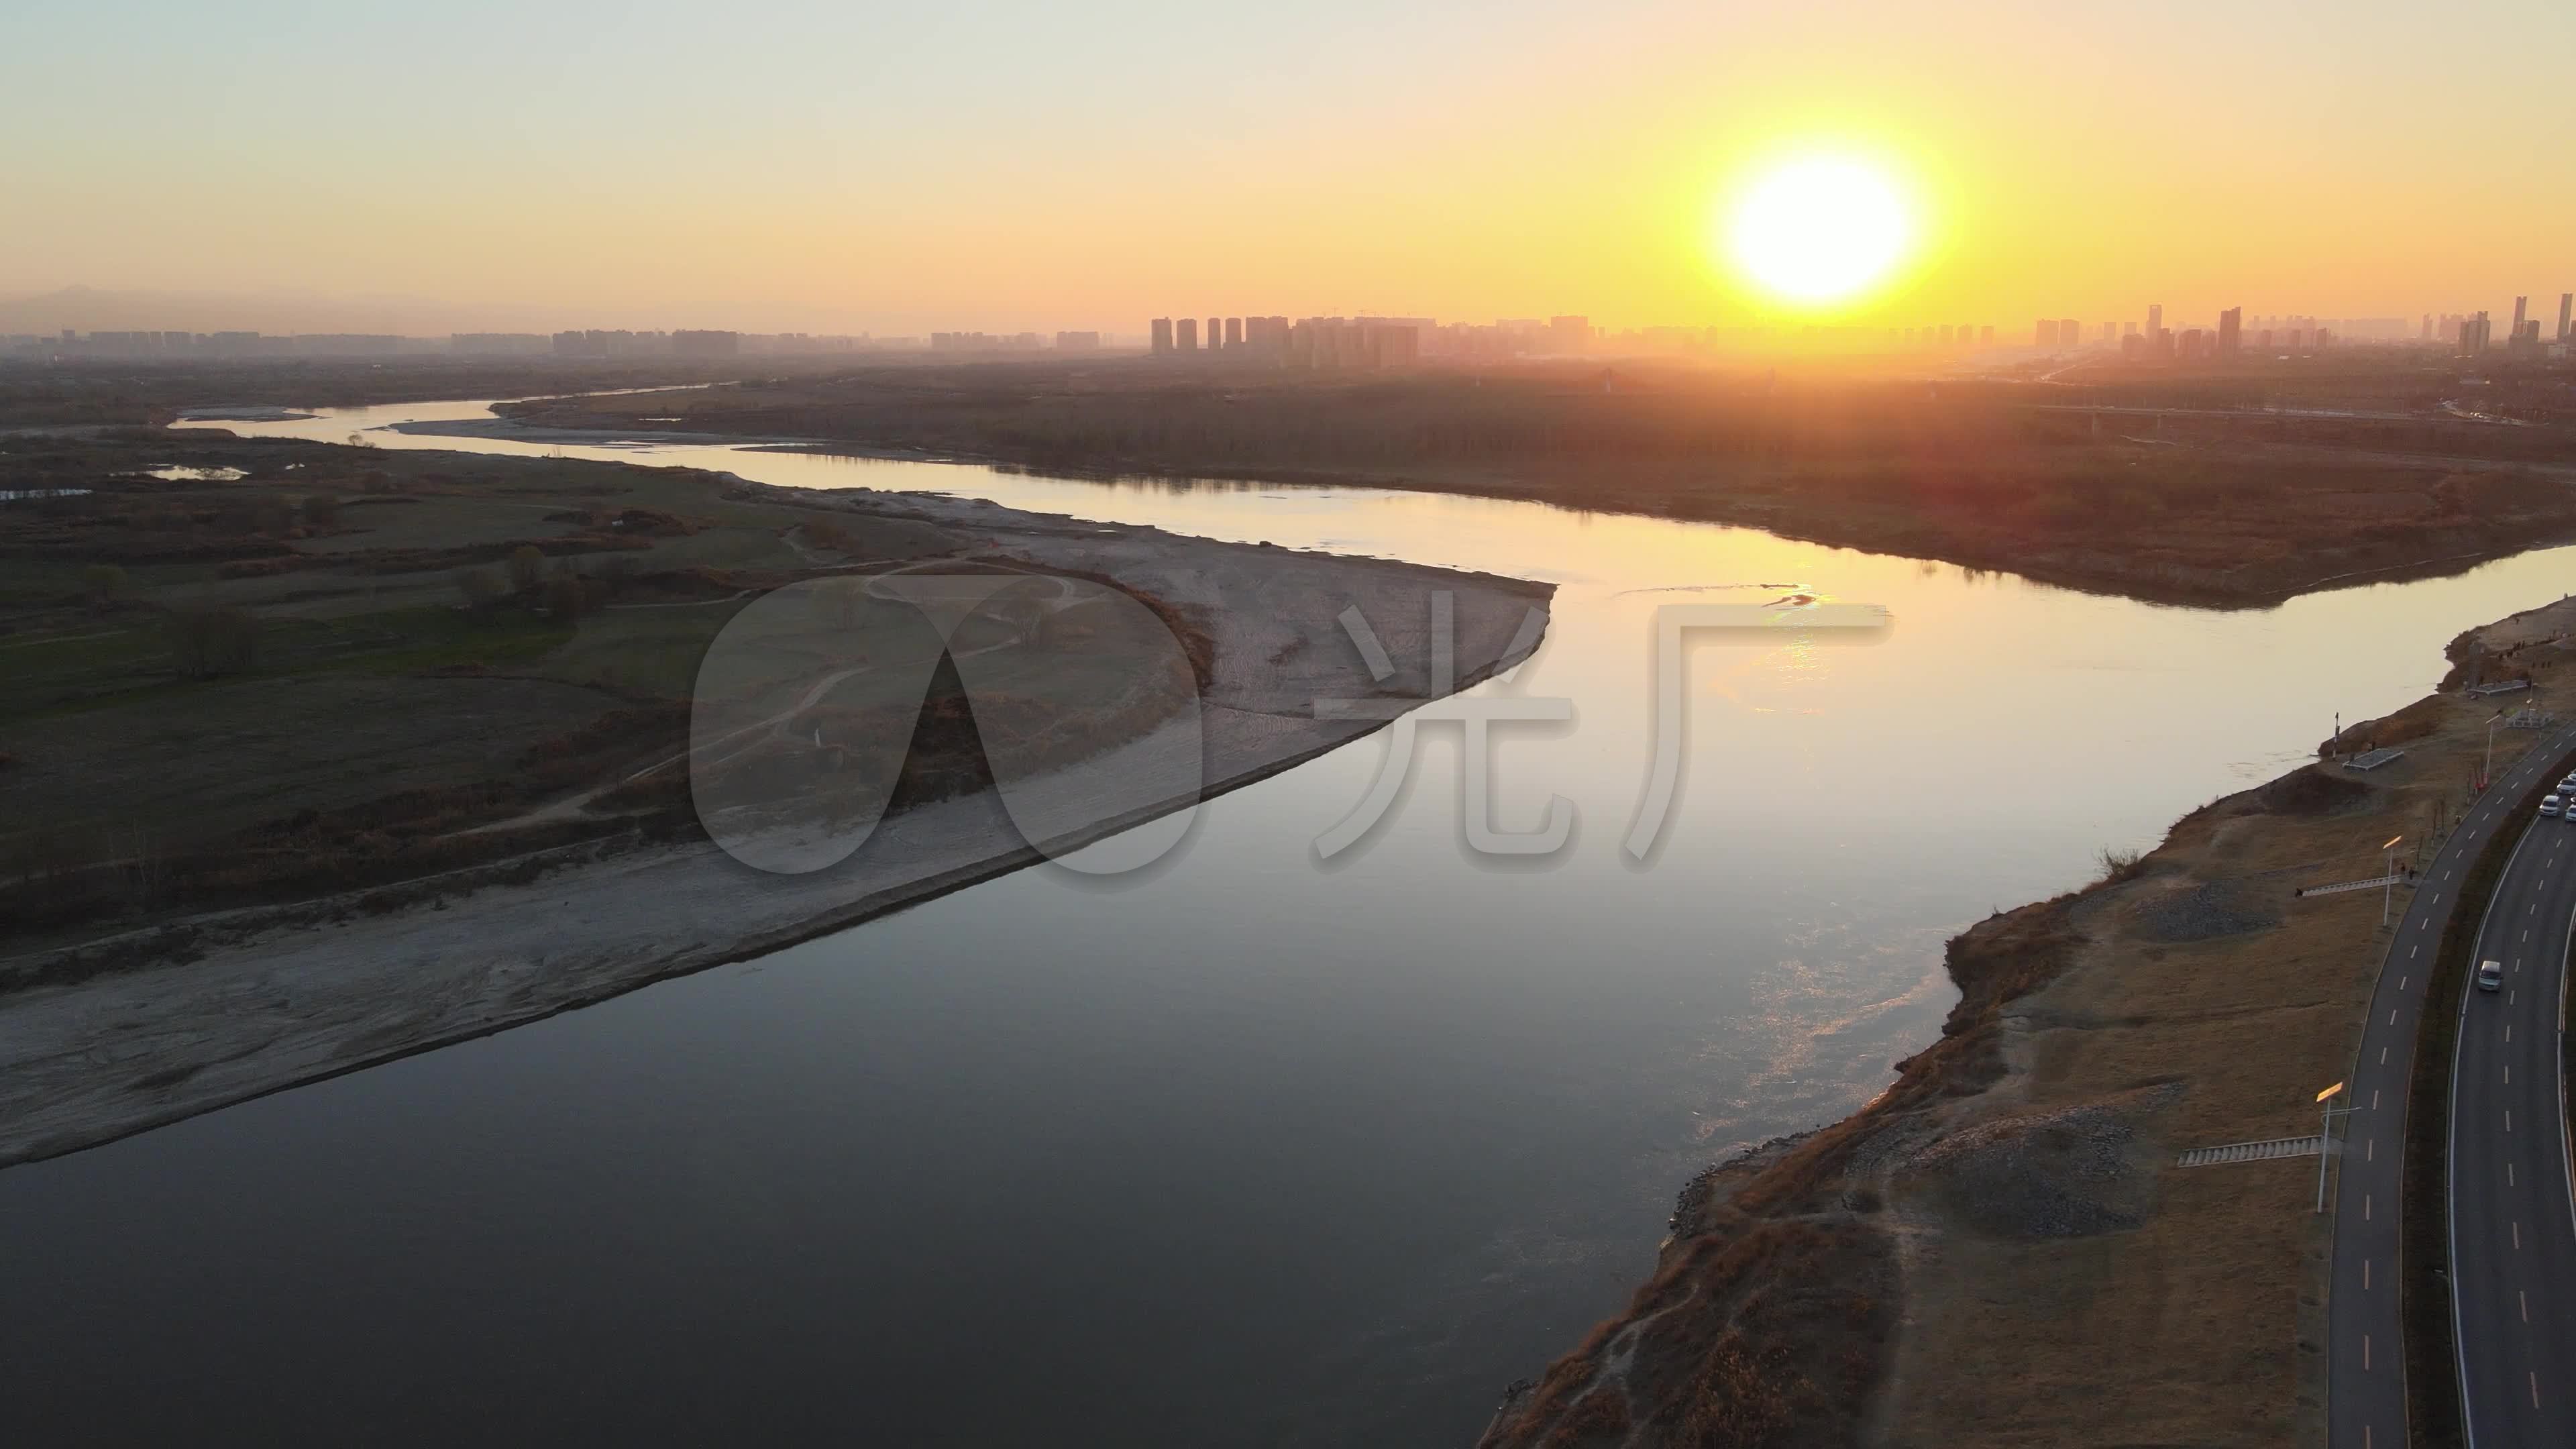
[[[1728,248],[1775,297],[1844,302],[1883,281],[1914,242],[1896,183],[1850,157],[1801,157],[1762,173],[1736,201]]]

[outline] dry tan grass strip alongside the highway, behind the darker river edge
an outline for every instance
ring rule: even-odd
[[[2313,1129],[2308,1104],[2352,1065],[2385,954],[2367,892],[2293,902],[2290,887],[2375,871],[2370,846],[2455,815],[2483,712],[2401,712],[2388,776],[2300,771],[2195,812],[2138,879],[2069,913],[2071,964],[2014,1000],[2007,1073],[1947,1129],[2177,1083],[2146,1119],[2151,1214],[2130,1232],[1978,1235],[1899,1189],[1906,1330],[1886,1444],[2313,1444],[2326,1220],[2313,1160],[2172,1168],[2195,1145]],[[2192,944],[2146,928],[2148,905],[2210,882],[2277,902],[2275,926]]]

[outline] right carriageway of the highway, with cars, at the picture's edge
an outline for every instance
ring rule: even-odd
[[[2478,931],[2450,1101],[2450,1274],[2468,1444],[2576,1444],[2576,1199],[2558,1029],[2576,822],[2532,817]]]

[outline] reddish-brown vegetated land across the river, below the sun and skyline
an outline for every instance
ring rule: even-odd
[[[1077,477],[1337,482],[1747,523],[2202,606],[2576,539],[2576,431],[2450,418],[2452,366],[2290,382],[1868,382],[1520,366],[1363,379],[1154,361],[876,366],[502,405]],[[2300,415],[2249,407],[2354,407]],[[2094,413],[2094,407],[2164,407]],[[677,418],[677,420],[672,420]]]

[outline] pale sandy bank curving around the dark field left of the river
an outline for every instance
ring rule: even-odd
[[[1432,596],[1455,603],[1458,686],[1535,645],[1548,588],[1383,559],[1213,544],[981,500],[739,485],[801,508],[935,518],[989,552],[1105,575],[1193,614],[1213,639],[1200,699],[1206,794],[1278,773],[1376,722],[1316,719],[1316,699],[1430,694]],[[1337,616],[1358,606],[1396,673],[1370,678]],[[1167,730],[1118,745],[1154,753]],[[1066,779],[1157,779],[1092,758]],[[1175,799],[1090,799],[1061,853],[1170,812]],[[250,1096],[605,1000],[744,959],[1020,869],[1036,851],[992,792],[889,817],[840,866],[762,874],[711,843],[585,859],[526,884],[363,915],[350,900],[196,920],[191,959],[0,998],[0,1165],[108,1142]],[[41,972],[41,959],[0,969]]]

